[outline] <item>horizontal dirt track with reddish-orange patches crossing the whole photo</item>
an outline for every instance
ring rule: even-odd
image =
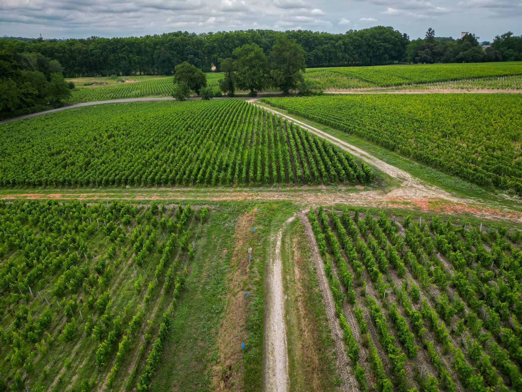
[[[403,186],[402,188],[404,188]],[[399,191],[402,189],[399,188]],[[401,191],[402,192],[402,191]],[[522,212],[484,207],[472,200],[453,202],[444,198],[396,196],[396,191],[383,189],[361,190],[357,187],[308,187],[299,188],[138,188],[128,191],[115,188],[100,192],[97,188],[76,191],[73,189],[53,190],[45,193],[1,194],[3,200],[191,200],[200,203],[226,201],[291,201],[305,208],[311,205],[348,204],[368,207],[408,207],[425,212],[470,213],[484,219],[503,219],[522,223]]]

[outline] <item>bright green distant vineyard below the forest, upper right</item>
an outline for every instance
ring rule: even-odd
[[[522,75],[522,63],[307,68],[305,80],[309,80],[313,88],[328,90],[390,87],[510,75]]]

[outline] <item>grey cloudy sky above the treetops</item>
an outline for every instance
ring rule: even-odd
[[[86,38],[170,31],[345,32],[393,26],[410,38],[522,34],[522,0],[0,0],[0,36]]]

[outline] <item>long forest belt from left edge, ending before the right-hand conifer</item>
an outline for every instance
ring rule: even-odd
[[[127,38],[0,39],[0,50],[39,52],[57,60],[66,77],[132,74],[171,74],[187,61],[204,72],[212,65],[220,71],[219,59],[232,56],[236,48],[255,43],[269,55],[278,37],[295,39],[303,47],[307,67],[381,65],[401,61],[408,36],[392,27],[377,26],[349,30],[343,34],[307,30],[247,30],[216,33],[171,32]]]

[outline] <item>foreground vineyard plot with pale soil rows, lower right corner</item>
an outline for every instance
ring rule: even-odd
[[[521,232],[348,207],[308,218],[361,391],[522,388]]]

